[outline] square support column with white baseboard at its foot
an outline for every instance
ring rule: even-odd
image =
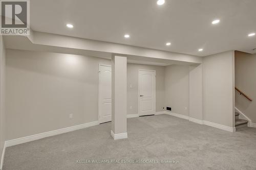
[[[116,139],[127,138],[126,123],[126,57],[112,56],[112,123],[111,136]]]

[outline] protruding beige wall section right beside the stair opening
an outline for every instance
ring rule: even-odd
[[[203,118],[234,127],[234,52],[203,58]]]

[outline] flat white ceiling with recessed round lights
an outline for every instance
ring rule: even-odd
[[[156,2],[31,0],[30,23],[39,32],[196,56],[228,50],[255,53],[256,36],[247,36],[256,32],[255,0],[165,0],[163,6]],[[220,23],[212,25],[216,18]],[[129,39],[123,37],[126,33]],[[166,46],[168,41],[172,45]]]

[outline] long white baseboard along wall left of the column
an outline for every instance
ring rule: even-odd
[[[16,144],[26,143],[26,142],[30,142],[33,140],[37,140],[37,139],[41,139],[41,138],[45,138],[45,137],[49,137],[49,136],[54,136],[54,135],[58,135],[58,134],[62,134],[62,133],[67,133],[67,132],[71,132],[71,131],[75,131],[75,130],[79,130],[79,129],[83,129],[83,128],[88,128],[88,127],[95,126],[95,125],[99,125],[99,122],[95,121],[95,122],[76,125],[76,126],[72,126],[72,127],[68,127],[68,128],[58,129],[58,130],[54,130],[54,131],[50,131],[50,132],[45,132],[45,133],[35,134],[35,135],[26,136],[26,137],[22,137],[22,138],[12,139],[12,140],[6,141],[5,144],[6,144],[6,147],[11,147]]]

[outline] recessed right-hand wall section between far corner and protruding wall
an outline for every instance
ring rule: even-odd
[[[203,120],[203,65],[165,67],[165,106]]]

